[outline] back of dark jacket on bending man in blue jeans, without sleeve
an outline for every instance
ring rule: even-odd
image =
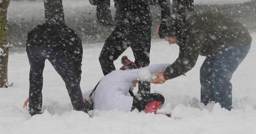
[[[248,45],[252,41],[243,24],[219,12],[193,12],[185,16],[188,20],[184,35],[189,37],[186,43],[200,45],[200,55],[216,55],[224,47]]]

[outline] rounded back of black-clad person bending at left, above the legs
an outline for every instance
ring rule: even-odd
[[[72,47],[80,47],[81,42],[74,30],[62,24],[48,24],[36,26],[28,33],[28,42],[26,47],[50,47],[66,51]]]

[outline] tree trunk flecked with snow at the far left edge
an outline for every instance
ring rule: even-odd
[[[0,0],[0,87],[8,87],[7,9],[10,0]]]

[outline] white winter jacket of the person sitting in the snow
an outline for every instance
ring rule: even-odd
[[[132,70],[115,70],[104,76],[92,95],[93,109],[130,111],[133,97],[127,96],[133,89],[132,81],[137,80],[142,69],[148,69],[151,74],[162,73],[170,64],[154,64],[148,67]],[[92,90],[83,93],[87,99]]]

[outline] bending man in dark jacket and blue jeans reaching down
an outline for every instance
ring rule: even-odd
[[[200,68],[201,102],[219,102],[232,109],[232,83],[237,67],[248,54],[252,37],[238,21],[218,12],[173,14],[162,21],[160,38],[180,47],[178,58],[152,83],[164,83],[188,72],[199,55],[206,56]],[[160,77],[164,79],[160,79]]]

